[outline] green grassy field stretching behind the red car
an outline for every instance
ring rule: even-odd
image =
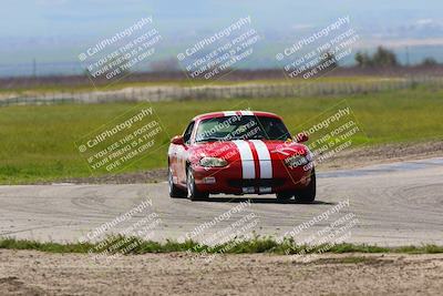
[[[442,139],[443,91],[389,91],[348,98],[256,99],[153,103],[168,135],[161,150],[125,169],[141,171],[166,165],[168,136],[181,134],[196,114],[251,108],[280,114],[298,131],[324,110],[346,99],[367,144]],[[0,183],[19,184],[89,176],[74,141],[126,112],[134,104],[59,104],[0,109]],[[361,139],[354,139],[361,142]]]

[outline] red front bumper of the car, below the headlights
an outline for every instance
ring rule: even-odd
[[[306,187],[312,170],[312,163],[290,169],[282,161],[272,161],[272,178],[243,178],[240,162],[234,162],[225,167],[195,165],[194,178],[200,192],[269,194]]]

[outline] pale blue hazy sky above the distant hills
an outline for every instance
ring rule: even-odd
[[[262,29],[321,25],[350,14],[356,24],[378,29],[441,21],[441,0],[2,0],[0,37],[96,35],[146,14],[169,31],[210,29],[250,14]]]

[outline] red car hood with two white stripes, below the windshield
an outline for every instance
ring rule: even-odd
[[[205,142],[195,145],[193,155],[220,157],[233,161],[282,161],[293,155],[306,155],[308,147],[292,141],[238,140],[226,142]]]

